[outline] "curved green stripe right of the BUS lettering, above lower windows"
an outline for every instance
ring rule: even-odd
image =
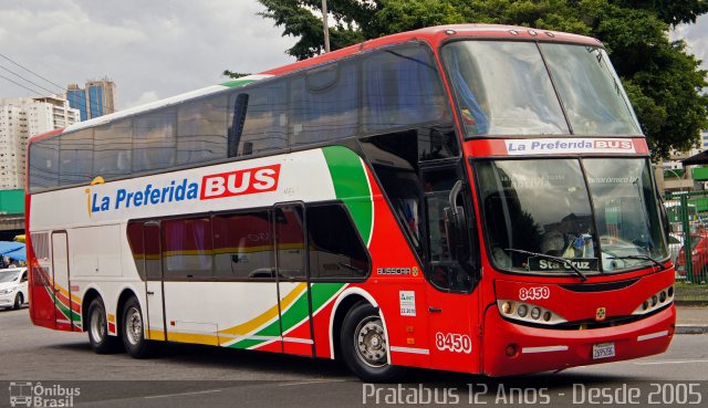
[[[334,193],[337,199],[344,201],[354,219],[356,229],[368,247],[374,222],[374,208],[362,159],[343,146],[325,147],[322,153],[330,168]]]

